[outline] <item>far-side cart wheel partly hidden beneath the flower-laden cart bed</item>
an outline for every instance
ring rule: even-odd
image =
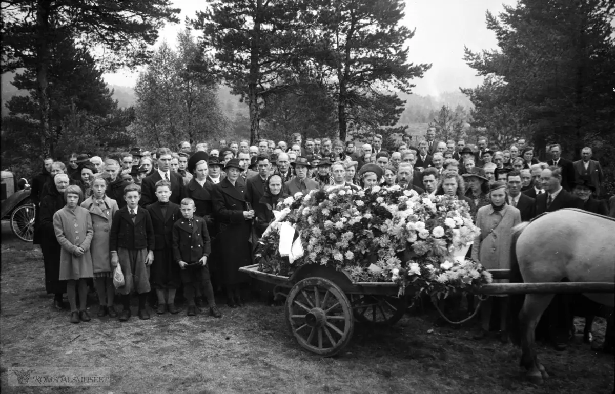
[[[352,313],[361,323],[376,326],[392,326],[399,321],[408,308],[408,298],[352,294]]]

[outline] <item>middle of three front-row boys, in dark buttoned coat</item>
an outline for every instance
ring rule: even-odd
[[[180,267],[173,261],[173,224],[181,218],[180,206],[169,201],[171,183],[167,180],[156,182],[157,202],[148,205],[146,210],[154,226],[154,262],[149,267],[149,283],[156,290],[158,307],[156,313],[162,315],[167,308],[177,313],[175,291],[181,285]]]

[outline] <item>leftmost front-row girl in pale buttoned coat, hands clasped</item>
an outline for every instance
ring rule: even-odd
[[[79,186],[68,186],[64,191],[66,207],[54,214],[54,230],[60,253],[60,280],[66,280],[66,293],[71,305],[71,323],[90,321],[85,310],[87,283],[85,278],[93,277],[90,243],[94,230],[92,217],[87,209],[79,207],[83,192]],[[77,312],[76,289],[79,287],[79,310]]]

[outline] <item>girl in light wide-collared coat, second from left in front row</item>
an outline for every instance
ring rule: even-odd
[[[94,288],[98,294],[98,317],[107,313],[109,317],[116,317],[117,312],[113,306],[115,286],[113,285],[113,269],[111,268],[111,255],[109,254],[109,232],[113,215],[119,208],[116,200],[105,195],[107,181],[97,176],[90,182],[92,196],[81,203],[92,217],[94,235],[90,244],[92,255],[92,270],[94,274]]]

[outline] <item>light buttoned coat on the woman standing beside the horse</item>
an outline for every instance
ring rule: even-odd
[[[501,215],[502,219],[494,225],[496,215]],[[480,262],[485,269],[509,269],[512,227],[519,223],[521,213],[510,205],[505,205],[499,212],[494,211],[491,205],[478,208],[476,226],[480,232],[474,238],[472,259]]]

